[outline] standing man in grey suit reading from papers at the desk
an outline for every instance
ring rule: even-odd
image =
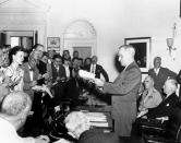
[[[142,74],[134,61],[135,49],[130,45],[119,47],[118,56],[124,70],[112,82],[95,79],[102,91],[112,96],[111,115],[114,119],[114,131],[120,136],[130,136],[132,123],[136,119],[136,99],[141,86]]]

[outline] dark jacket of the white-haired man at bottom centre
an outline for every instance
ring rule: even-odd
[[[104,133],[95,129],[83,132],[77,143],[120,143],[114,133]]]

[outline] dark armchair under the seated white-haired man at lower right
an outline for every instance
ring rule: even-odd
[[[173,117],[164,124],[141,127],[145,143],[181,143],[181,104],[178,103]]]

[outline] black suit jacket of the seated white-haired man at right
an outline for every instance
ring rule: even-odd
[[[173,93],[169,97],[164,99],[159,104],[159,106],[149,109],[146,116],[147,118],[159,118],[159,117],[172,116],[178,102],[179,102],[179,97],[176,95],[176,93]]]

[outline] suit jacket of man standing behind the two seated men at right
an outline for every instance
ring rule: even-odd
[[[162,93],[162,86],[168,76],[176,79],[177,74],[167,68],[160,68],[158,74],[155,73],[154,68],[148,71],[148,75],[154,79],[154,86],[159,92]]]

